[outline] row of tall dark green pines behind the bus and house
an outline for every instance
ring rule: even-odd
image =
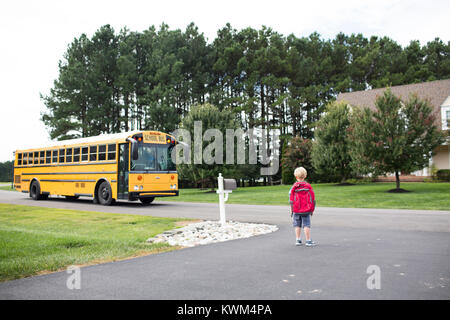
[[[128,130],[171,132],[196,104],[231,111],[246,130],[311,139],[340,92],[450,77],[450,42],[402,47],[388,37],[323,39],[230,24],[208,42],[195,24],[143,32],[109,26],[68,45],[41,98],[52,139]]]

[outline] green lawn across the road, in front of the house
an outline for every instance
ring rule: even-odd
[[[317,206],[341,208],[393,208],[450,210],[450,183],[401,183],[409,193],[388,193],[395,183],[369,183],[353,186],[313,184]],[[238,188],[227,203],[288,205],[290,186]],[[181,189],[179,197],[164,201],[218,202],[218,195],[209,190]]]

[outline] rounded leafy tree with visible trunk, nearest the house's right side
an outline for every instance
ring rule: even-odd
[[[349,135],[352,165],[360,173],[400,174],[429,164],[433,150],[444,142],[437,114],[427,101],[412,95],[402,101],[390,89],[377,98],[376,109],[355,109]]]

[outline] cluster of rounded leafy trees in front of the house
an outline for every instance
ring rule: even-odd
[[[448,138],[437,125],[439,113],[428,101],[411,95],[402,100],[388,88],[377,97],[375,110],[331,102],[317,122],[314,141],[295,137],[283,154],[283,182],[293,182],[298,166],[307,168],[312,181],[347,184],[348,179],[394,173],[428,166],[433,150]]]

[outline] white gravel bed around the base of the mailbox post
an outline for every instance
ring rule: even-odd
[[[149,243],[167,242],[170,245],[193,247],[214,242],[249,238],[277,231],[275,225],[227,221],[222,227],[219,221],[202,221],[185,227],[165,231],[147,240]]]

